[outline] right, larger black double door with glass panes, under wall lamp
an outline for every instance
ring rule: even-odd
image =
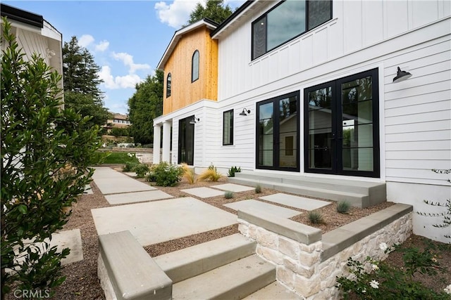
[[[378,70],[304,90],[305,171],[378,177]]]

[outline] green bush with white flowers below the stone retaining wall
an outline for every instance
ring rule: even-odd
[[[451,285],[442,292],[435,292],[414,277],[416,273],[431,276],[447,271],[436,259],[438,248],[434,244],[428,243],[424,249],[419,249],[400,245],[388,247],[381,243],[379,248],[385,254],[401,252],[404,266],[395,268],[369,256],[363,262],[348,259],[347,267],[352,275],[337,278],[336,285],[344,299],[451,299]]]

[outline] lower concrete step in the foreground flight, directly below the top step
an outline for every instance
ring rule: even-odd
[[[172,299],[243,299],[276,280],[276,266],[256,254],[175,283]]]

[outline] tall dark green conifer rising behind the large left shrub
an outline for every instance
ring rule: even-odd
[[[83,117],[92,117],[87,126],[104,125],[111,117],[103,103],[103,93],[99,89],[100,68],[86,48],[78,45],[77,37],[63,46],[64,100],[68,108],[73,108]]]

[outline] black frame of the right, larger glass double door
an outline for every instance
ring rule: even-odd
[[[341,99],[341,84],[359,79],[362,77],[371,76],[372,82],[372,110],[373,110],[373,171],[352,171],[343,170],[342,163],[342,99]],[[310,86],[304,89],[304,171],[306,173],[316,174],[335,174],[347,176],[362,176],[379,178],[381,176],[380,165],[380,141],[379,141],[379,79],[378,68],[352,74],[347,77],[328,81],[316,86]],[[310,91],[316,91],[330,86],[332,88],[332,169],[311,169],[309,168],[309,97]],[[339,126],[340,125],[340,126]]]

